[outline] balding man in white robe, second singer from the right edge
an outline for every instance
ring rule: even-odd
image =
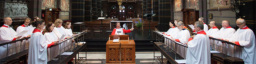
[[[236,30],[233,29],[232,27],[229,26],[229,21],[228,20],[223,20],[222,21],[222,27],[221,29],[219,29],[219,31],[215,34],[215,35],[212,35],[210,37],[213,37],[213,38],[218,38],[218,39],[225,39],[225,38],[230,38],[235,32]],[[219,52],[222,52],[224,54],[227,53],[227,55],[229,56],[233,56],[233,46],[229,44],[229,46],[226,46],[226,43],[222,43],[221,41],[216,41],[216,45],[218,45],[219,47],[217,47],[216,49],[218,49],[217,51]],[[226,52],[226,49],[224,49],[226,46],[227,49],[227,52]],[[224,47],[224,48],[222,48]]]

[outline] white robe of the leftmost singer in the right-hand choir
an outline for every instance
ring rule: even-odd
[[[165,34],[167,34],[166,37],[173,37],[173,36],[175,36],[179,31],[180,31],[180,30],[179,30],[177,27],[172,27],[172,28],[170,28]],[[166,45],[168,44],[169,46],[171,46],[171,45],[172,45],[171,43],[172,43],[171,40],[165,38],[165,44],[166,44]]]

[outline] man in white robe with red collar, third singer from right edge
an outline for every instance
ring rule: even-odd
[[[206,34],[208,36],[213,36],[219,31],[219,29],[215,26],[215,21],[210,21],[209,26],[211,28],[206,32]],[[213,40],[210,40],[210,43],[211,43],[210,45],[212,46],[212,48],[213,48],[213,44],[215,44],[215,45],[217,44],[216,42],[214,43]],[[218,47],[218,46],[214,46],[214,47]]]

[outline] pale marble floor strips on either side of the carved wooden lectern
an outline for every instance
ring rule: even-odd
[[[136,64],[161,64],[157,58],[154,60],[154,52],[136,52],[135,55]],[[155,52],[155,56],[161,56],[161,53]],[[79,57],[85,57],[85,52],[80,52]],[[87,52],[87,61],[85,61],[85,58],[83,58],[80,64],[106,64],[106,53]],[[169,64],[165,57],[164,64]]]

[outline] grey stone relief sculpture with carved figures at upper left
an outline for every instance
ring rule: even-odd
[[[27,17],[27,4],[6,3],[5,17]]]

